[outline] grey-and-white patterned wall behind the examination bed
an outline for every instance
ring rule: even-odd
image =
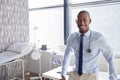
[[[28,0],[0,0],[0,52],[15,41],[28,40]]]

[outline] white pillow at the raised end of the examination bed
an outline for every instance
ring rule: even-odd
[[[25,51],[31,49],[31,45],[25,42],[15,42],[7,48],[7,51],[24,53]]]

